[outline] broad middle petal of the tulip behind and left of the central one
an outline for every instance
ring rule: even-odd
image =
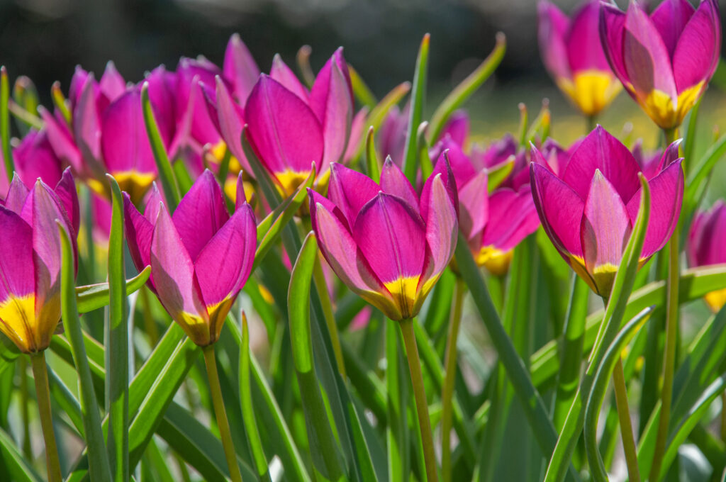
[[[291,91],[261,75],[245,106],[248,136],[272,173],[309,173],[322,160],[322,128],[310,108]]]

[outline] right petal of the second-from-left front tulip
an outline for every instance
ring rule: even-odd
[[[256,246],[255,215],[250,205],[243,203],[200,251],[194,264],[208,309],[227,299],[234,301],[250,276]]]

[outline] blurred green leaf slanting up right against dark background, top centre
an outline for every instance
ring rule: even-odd
[[[471,95],[477,91],[477,89],[483,84],[486,79],[489,78],[494,70],[499,66],[504,58],[505,51],[507,49],[507,38],[504,33],[497,33],[497,43],[494,44],[494,49],[489,54],[489,57],[484,59],[484,62],[470,73],[467,78],[459,83],[454,90],[449,92],[449,95],[441,101],[439,107],[436,107],[433,115],[431,116],[431,128],[429,129],[430,135],[428,136],[429,142],[436,142],[441,136],[441,131],[446,125],[446,120],[452,115],[454,110],[457,110]]]

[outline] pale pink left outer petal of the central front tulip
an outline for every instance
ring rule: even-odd
[[[332,203],[317,192],[310,189],[308,192],[312,226],[327,264],[354,293],[377,306],[391,319],[401,319],[401,312],[391,293],[370,269],[340,217],[330,211]]]

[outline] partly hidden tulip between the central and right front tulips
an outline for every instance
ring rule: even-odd
[[[438,163],[444,156],[451,163],[459,193],[461,231],[476,263],[492,274],[505,274],[512,250],[539,227],[529,184],[489,192],[488,169],[473,163],[450,134],[433,152],[440,152]]]

